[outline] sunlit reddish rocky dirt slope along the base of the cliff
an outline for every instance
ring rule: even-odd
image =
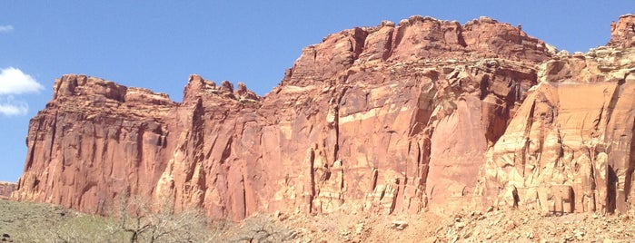
[[[228,242],[624,242],[635,241],[628,214],[551,214],[538,211],[470,211],[451,216],[276,214],[268,216],[270,237],[253,235],[254,216],[223,231]],[[257,223],[255,225],[258,225]],[[250,229],[251,228],[251,229]],[[277,232],[276,232],[277,231]],[[276,236],[276,234],[278,234]],[[261,235],[265,236],[266,234]],[[248,236],[244,238],[244,236]],[[238,240],[240,241],[240,240]]]

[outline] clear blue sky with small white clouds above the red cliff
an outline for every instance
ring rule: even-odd
[[[83,73],[165,92],[180,102],[189,74],[242,81],[264,95],[303,47],[354,26],[429,15],[521,24],[559,50],[610,39],[630,1],[48,1],[0,2],[0,180],[17,181],[29,120],[55,78]]]

